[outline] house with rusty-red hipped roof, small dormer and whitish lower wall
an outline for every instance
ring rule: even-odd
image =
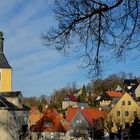
[[[42,118],[31,126],[32,140],[65,140],[64,119],[55,109],[47,109]]]

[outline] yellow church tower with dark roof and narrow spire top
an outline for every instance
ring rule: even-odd
[[[3,42],[3,33],[0,31],[0,92],[11,92],[12,68],[4,55]]]

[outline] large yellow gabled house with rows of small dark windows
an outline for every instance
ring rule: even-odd
[[[136,116],[140,118],[140,107],[125,93],[107,114],[104,125],[108,132],[117,133],[120,128],[131,126]]]

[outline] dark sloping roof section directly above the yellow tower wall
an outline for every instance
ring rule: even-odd
[[[3,53],[0,53],[0,68],[11,68]]]

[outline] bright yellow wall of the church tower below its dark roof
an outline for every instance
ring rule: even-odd
[[[12,70],[1,69],[0,92],[12,91]]]

